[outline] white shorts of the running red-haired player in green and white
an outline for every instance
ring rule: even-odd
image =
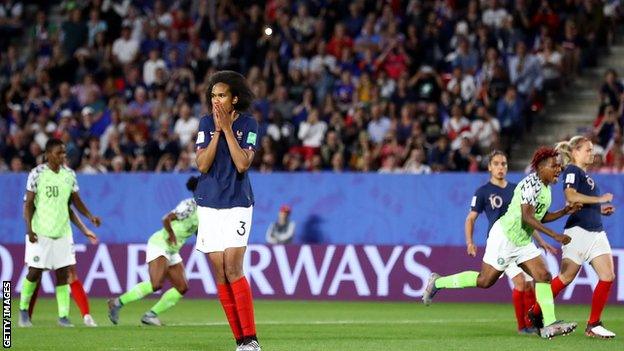
[[[497,271],[505,271],[510,264],[519,265],[528,260],[539,257],[542,252],[530,242],[524,246],[517,246],[509,241],[507,235],[498,222],[490,229],[490,235],[485,246],[483,262],[494,267]],[[517,274],[516,274],[517,275]]]

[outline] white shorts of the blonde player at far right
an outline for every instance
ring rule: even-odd
[[[563,234],[572,238],[572,241],[561,248],[562,257],[569,258],[579,266],[598,256],[611,254],[611,245],[604,231],[590,232],[581,227],[572,227],[564,230]]]

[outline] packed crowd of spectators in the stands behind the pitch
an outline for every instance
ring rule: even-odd
[[[257,98],[255,170],[477,171],[608,50],[618,5],[1,0],[0,172],[40,163],[52,137],[79,172],[193,171],[224,69]],[[621,168],[624,86],[601,92],[596,138]]]

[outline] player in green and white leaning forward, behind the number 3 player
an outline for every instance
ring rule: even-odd
[[[192,193],[197,188],[197,177],[190,177],[186,188]],[[173,285],[160,300],[141,318],[147,325],[161,326],[158,316],[173,307],[188,290],[180,249],[197,232],[197,205],[195,199],[182,200],[176,208],[163,217],[163,228],[147,241],[147,261],[150,280],[135,285],[119,297],[108,300],[108,317],[119,323],[119,310],[126,304],[140,300],[160,290],[165,278]]]

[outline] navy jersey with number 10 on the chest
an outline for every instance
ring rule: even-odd
[[[507,186],[504,188],[487,182],[475,192],[470,203],[470,210],[477,213],[485,211],[485,216],[489,222],[488,233],[494,222],[507,212],[515,188],[516,184],[510,182],[507,182]]]

